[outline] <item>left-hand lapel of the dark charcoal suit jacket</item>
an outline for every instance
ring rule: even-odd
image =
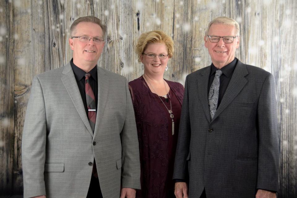
[[[198,96],[199,96],[200,101],[202,103],[203,110],[204,110],[204,113],[206,115],[206,118],[207,118],[207,120],[209,122],[211,121],[211,118],[210,118],[210,113],[209,113],[208,90],[207,90],[207,88],[208,88],[208,81],[209,81],[210,71],[211,71],[210,66],[205,67],[205,69],[202,70],[198,74],[198,76],[196,78],[196,82],[195,82],[195,86],[198,87]]]

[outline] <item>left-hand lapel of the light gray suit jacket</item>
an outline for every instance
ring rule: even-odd
[[[86,111],[84,109],[84,103],[80,96],[80,90],[77,87],[77,83],[75,80],[74,73],[72,71],[70,62],[65,66],[64,70],[62,71],[62,83],[64,84],[74,106],[77,110],[78,114],[80,115],[80,118],[83,120],[84,125],[87,127],[89,133],[93,137],[93,131],[91,129],[90,123],[87,118]]]

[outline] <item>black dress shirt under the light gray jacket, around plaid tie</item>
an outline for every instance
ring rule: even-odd
[[[86,110],[86,114],[88,117],[88,107],[87,107],[87,101],[86,101],[86,89],[85,89],[85,80],[86,78],[84,77],[84,75],[86,74],[86,72],[82,69],[80,69],[79,67],[77,67],[74,63],[73,63],[73,59],[71,59],[70,61],[74,76],[75,76],[75,80],[78,86],[78,89],[80,90],[80,96],[81,99],[83,100],[84,103],[84,109]],[[92,87],[94,96],[95,96],[95,102],[96,102],[96,110],[97,110],[97,104],[98,104],[98,81],[97,81],[97,65],[88,72],[89,74],[91,74],[91,77],[89,78],[89,84]]]

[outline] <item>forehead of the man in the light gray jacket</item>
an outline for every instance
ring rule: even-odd
[[[92,37],[102,37],[103,32],[100,25],[92,23],[92,22],[80,22],[76,25],[75,34],[88,35]]]

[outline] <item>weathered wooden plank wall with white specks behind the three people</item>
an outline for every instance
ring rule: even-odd
[[[297,197],[297,1],[295,0],[1,0],[0,195],[23,193],[21,136],[34,75],[72,57],[69,29],[80,16],[107,25],[99,65],[133,80],[142,74],[133,47],[142,32],[161,29],[175,43],[165,78],[210,64],[204,31],[218,16],[236,19],[242,62],[275,78],[280,134],[279,197]]]

